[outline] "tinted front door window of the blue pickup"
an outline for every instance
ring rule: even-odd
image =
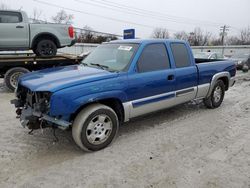
[[[138,72],[169,69],[169,58],[164,44],[146,46],[137,62]]]

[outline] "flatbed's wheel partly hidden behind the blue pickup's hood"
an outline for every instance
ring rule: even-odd
[[[30,72],[28,69],[25,69],[23,67],[15,67],[12,69],[9,69],[4,76],[4,83],[5,86],[11,90],[14,91],[17,87],[17,83],[18,83],[18,78],[25,74]]]

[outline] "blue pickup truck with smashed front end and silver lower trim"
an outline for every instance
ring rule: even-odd
[[[235,75],[231,61],[194,59],[185,41],[112,41],[80,65],[25,74],[12,103],[24,127],[72,128],[80,148],[96,151],[131,118],[195,99],[219,107]]]

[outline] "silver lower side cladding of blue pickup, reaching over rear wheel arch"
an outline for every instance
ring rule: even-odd
[[[218,73],[213,76],[212,82],[198,85],[198,87],[185,88],[178,91],[168,92],[160,95],[154,95],[145,97],[129,102],[123,103],[124,108],[124,122],[129,121],[133,117],[144,115],[156,110],[161,110],[175,106],[177,104],[185,103],[194,99],[202,99],[209,96],[209,92],[212,92],[212,88],[216,81],[221,77],[230,78],[228,72]],[[229,79],[229,86],[231,87],[235,83],[235,77]],[[211,91],[210,91],[211,90]],[[174,97],[167,97],[174,95]],[[158,100],[162,99],[162,100]],[[133,104],[145,102],[143,105],[136,106]]]

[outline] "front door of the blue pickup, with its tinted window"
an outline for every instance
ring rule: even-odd
[[[130,117],[166,108],[175,98],[175,72],[171,68],[165,43],[144,47],[136,72],[128,75]]]

